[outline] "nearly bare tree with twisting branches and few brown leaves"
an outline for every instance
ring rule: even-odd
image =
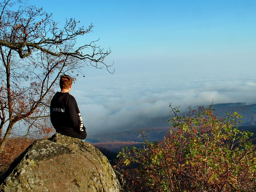
[[[18,3],[17,11],[12,9]],[[96,41],[75,47],[76,38],[92,31],[78,27],[74,19],[58,28],[52,14],[26,2],[0,3],[0,147],[4,147],[14,127],[26,127],[26,135],[47,134],[49,102],[61,73],[75,77],[81,68],[92,65],[109,71],[104,59],[111,51]],[[110,73],[113,73],[109,71]]]

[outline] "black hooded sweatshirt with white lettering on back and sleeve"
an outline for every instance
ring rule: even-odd
[[[51,101],[50,117],[57,133],[85,139],[87,133],[75,98],[68,92],[57,92]]]

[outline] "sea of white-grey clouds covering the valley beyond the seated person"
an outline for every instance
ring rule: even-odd
[[[253,76],[170,76],[153,73],[89,77],[70,92],[79,105],[88,135],[168,126],[169,105],[256,103]]]

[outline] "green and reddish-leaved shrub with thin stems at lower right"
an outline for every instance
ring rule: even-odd
[[[161,142],[119,152],[133,191],[255,191],[256,147],[252,133],[238,129],[237,113],[218,118],[209,109],[171,107],[170,132]],[[137,187],[134,187],[136,185]]]

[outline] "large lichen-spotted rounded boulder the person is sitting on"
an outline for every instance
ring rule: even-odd
[[[105,156],[80,139],[54,134],[29,146],[1,178],[1,192],[118,192]]]

